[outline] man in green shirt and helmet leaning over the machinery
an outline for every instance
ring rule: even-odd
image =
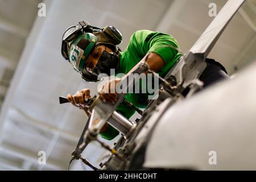
[[[97,33],[93,34],[93,31],[90,33],[90,31],[82,30],[79,33],[76,32],[76,35],[76,38],[67,44],[67,48],[64,51],[62,50],[62,53],[65,59],[73,65],[73,68],[80,72],[87,81],[96,81],[96,77],[100,73],[106,73],[110,76],[110,69],[114,69],[115,74],[124,73],[127,75],[141,61],[146,61],[152,71],[164,77],[182,56],[177,51],[179,49],[177,41],[171,35],[161,32],[150,30],[134,32],[123,52],[117,48],[112,40],[106,41],[105,39],[102,41],[101,36],[98,36]],[[115,36],[113,39],[115,39]],[[222,68],[222,65],[214,60],[208,62],[208,68],[210,69],[208,72],[211,76],[207,72],[203,73],[202,75],[205,75],[206,79],[202,78],[202,81],[205,81],[208,85],[208,82],[212,83],[226,77],[226,71],[225,68]],[[117,100],[117,93],[109,93],[106,88],[118,84],[121,79],[115,77],[114,80],[106,82],[98,90],[102,101],[114,103]],[[147,96],[148,94],[127,93],[125,98],[134,106],[144,109],[147,106]],[[67,98],[73,105],[81,107],[85,100],[90,98],[90,90],[82,89],[74,95],[68,94]],[[135,113],[135,110],[122,103],[116,110],[126,118],[130,118]],[[85,113],[88,114],[87,111]],[[112,140],[118,134],[119,132],[108,124],[104,126],[100,133],[101,137],[107,140]]]

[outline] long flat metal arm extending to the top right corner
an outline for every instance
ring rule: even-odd
[[[205,59],[243,2],[245,0],[229,0],[192,48],[167,73],[166,80],[170,76],[176,78],[177,89],[174,95],[195,84],[195,80],[201,76],[206,67]]]

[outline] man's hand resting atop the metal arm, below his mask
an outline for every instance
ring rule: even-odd
[[[110,101],[113,104],[117,101],[117,93],[115,86],[121,81],[121,78],[106,81],[98,90],[98,94],[103,102]]]

